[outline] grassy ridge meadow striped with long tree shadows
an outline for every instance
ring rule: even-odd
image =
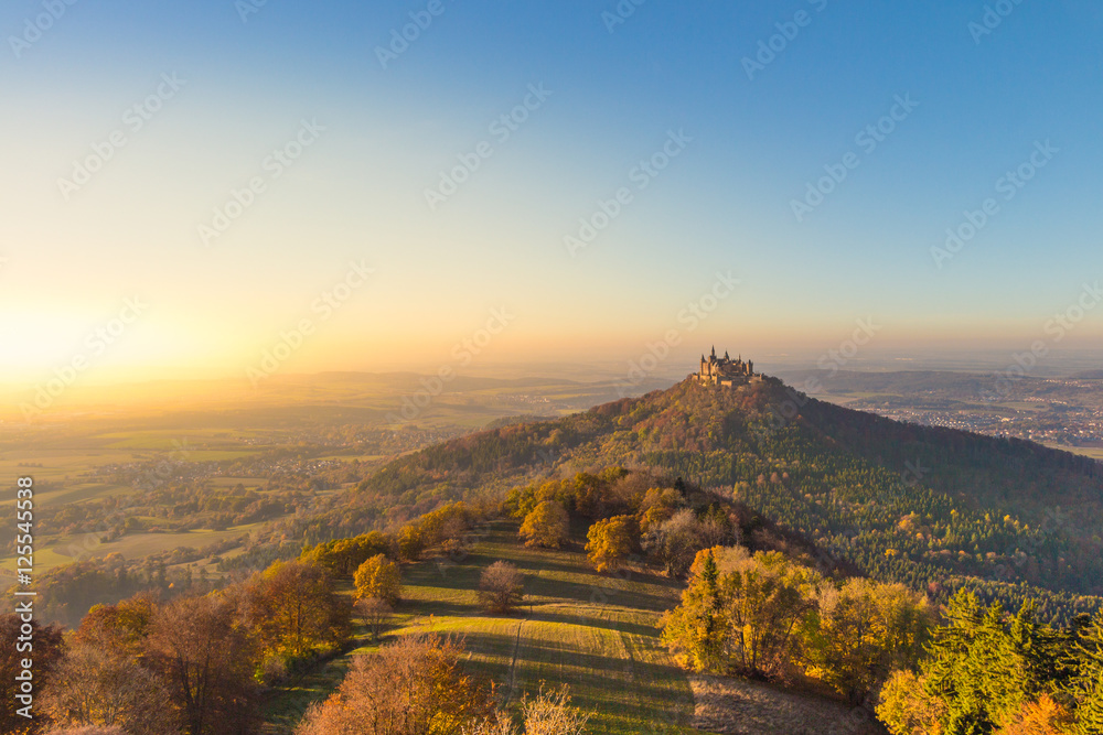
[[[482,570],[499,560],[526,577],[525,606],[510,616],[484,614],[475,594]],[[689,682],[658,640],[658,619],[678,590],[643,568],[597,574],[577,542],[556,552],[525,549],[516,526],[500,521],[479,532],[463,559],[404,569],[404,602],[384,642],[418,631],[462,637],[472,672],[493,681],[507,707],[542,683],[568,684],[574,704],[592,712],[595,735],[700,733],[689,726]],[[340,683],[351,657],[372,650],[360,627],[356,646],[276,692],[267,705],[269,732],[291,732],[306,707]]]

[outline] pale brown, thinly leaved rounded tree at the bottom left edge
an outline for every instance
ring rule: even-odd
[[[180,732],[163,679],[108,636],[79,641],[68,651],[43,707],[58,727],[118,727],[124,735]]]

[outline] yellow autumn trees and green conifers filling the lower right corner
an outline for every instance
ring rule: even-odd
[[[1103,732],[1103,613],[1054,628],[1032,601],[1008,615],[963,591],[940,616],[903,585],[718,547],[698,553],[663,640],[694,671],[820,682],[892,735]]]

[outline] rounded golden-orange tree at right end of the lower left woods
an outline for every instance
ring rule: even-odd
[[[248,584],[244,608],[261,658],[303,657],[349,636],[347,603],[321,566],[275,562]]]

